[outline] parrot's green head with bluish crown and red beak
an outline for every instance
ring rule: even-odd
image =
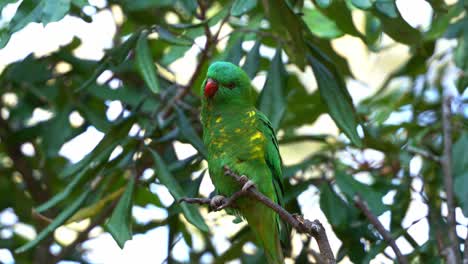
[[[252,104],[249,77],[230,62],[218,61],[211,64],[202,89],[204,102],[215,105]]]

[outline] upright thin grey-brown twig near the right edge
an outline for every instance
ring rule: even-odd
[[[450,124],[451,117],[451,102],[452,97],[449,95],[444,96],[442,102],[442,126],[444,137],[444,152],[442,156],[442,170],[444,173],[444,187],[445,196],[447,198],[447,224],[448,224],[448,237],[449,245],[454,257],[455,263],[460,263],[460,256],[458,255],[458,238],[456,233],[455,221],[455,204],[453,201],[453,177],[452,177],[452,128]],[[447,255],[448,256],[448,255]]]

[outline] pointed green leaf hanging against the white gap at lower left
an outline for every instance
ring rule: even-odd
[[[133,190],[135,188],[135,177],[130,177],[125,192],[120,197],[119,203],[112,212],[106,228],[117,242],[120,248],[123,248],[127,240],[132,239],[132,204]]]

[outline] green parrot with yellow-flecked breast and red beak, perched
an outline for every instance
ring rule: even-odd
[[[224,175],[224,166],[249,178],[272,201],[282,205],[281,157],[275,132],[268,118],[253,103],[253,88],[247,74],[229,62],[215,62],[202,85],[201,120],[208,167],[218,194],[239,191],[235,180]],[[217,197],[220,198],[220,197]],[[214,198],[216,199],[216,197]],[[264,204],[242,197],[237,213],[244,217],[269,263],[284,263],[280,239],[287,243],[286,225]]]

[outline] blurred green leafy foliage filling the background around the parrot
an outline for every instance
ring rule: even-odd
[[[431,12],[426,27],[411,26],[397,5],[403,1],[394,0],[94,2],[0,1],[2,10],[17,8],[2,18],[2,48],[29,24],[47,26],[65,16],[90,23],[107,10],[116,27],[99,60],[78,56],[82,41],[74,37],[1,70],[0,209],[16,220],[0,222],[0,248],[16,263],[88,263],[83,243],[96,233],[109,232],[123,247],[132,235],[163,226],[169,230],[160,238],[168,241],[167,263],[261,262],[247,226],[226,232],[230,246],[219,250],[214,227],[228,216],[164,202],[156,191],[167,188],[175,200],[209,195],[200,191],[209,181],[203,181],[199,87],[215,60],[242,66],[254,80],[257,106],[278,131],[286,208],[326,217],[338,261],[395,259],[354,205],[356,196],[386,219],[411,263],[444,262],[450,246],[461,258],[468,224],[466,1],[423,1]],[[349,47],[338,48],[341,43]],[[392,49],[403,52],[386,53]],[[363,80],[362,72],[372,72],[365,68],[372,56],[380,59],[373,66],[377,76]],[[396,66],[386,66],[394,60]],[[453,144],[446,143],[453,154],[453,225],[446,219],[441,167],[448,154],[444,100],[451,110]],[[110,102],[122,105],[113,117]],[[37,111],[47,118],[34,118]],[[64,145],[91,127],[103,133],[92,151],[76,161],[64,157]],[[319,215],[308,205],[318,197]],[[412,204],[424,213],[405,223]],[[148,205],[165,216],[138,221],[132,208]],[[422,233],[411,232],[420,222],[426,223]],[[60,239],[57,229],[64,226],[73,239]],[[180,241],[188,259],[173,252]],[[288,261],[320,263],[310,238],[294,234],[293,242]]]

